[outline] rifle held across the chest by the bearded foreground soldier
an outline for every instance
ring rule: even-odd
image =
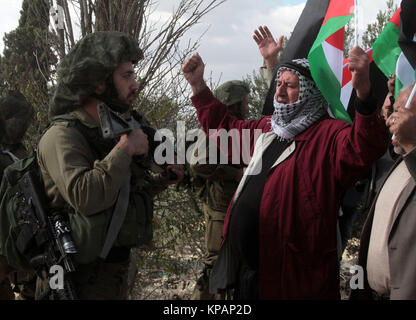
[[[155,162],[153,158],[154,152],[162,142],[155,140],[155,136],[157,135],[156,129],[152,128],[140,113],[132,111],[131,118],[127,120],[111,110],[105,103],[100,103],[98,105],[98,116],[105,139],[118,139],[123,134],[129,134],[135,129],[142,129],[149,138],[148,157],[151,163],[151,171],[164,173],[168,176],[169,180],[176,180],[178,178],[174,172],[166,170],[166,165],[158,165]]]

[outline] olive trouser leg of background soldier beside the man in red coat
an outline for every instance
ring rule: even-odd
[[[192,294],[192,300],[223,300],[224,295],[209,293],[209,275],[217,261],[221,249],[221,235],[224,227],[225,212],[211,209],[204,204],[205,216],[205,268],[198,279]]]

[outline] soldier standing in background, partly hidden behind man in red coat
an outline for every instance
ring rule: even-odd
[[[229,112],[240,120],[248,114],[249,87],[242,81],[228,81],[219,86],[214,95],[225,105]],[[209,293],[209,274],[218,257],[221,248],[221,234],[224,226],[225,214],[231,198],[243,176],[243,168],[233,164],[210,164],[208,162],[208,139],[199,137],[199,143],[206,143],[206,163],[200,164],[201,155],[198,155],[198,146],[195,146],[191,171],[197,180],[202,180],[199,196],[204,203],[205,217],[205,267],[198,279],[193,300],[223,299],[224,296]]]

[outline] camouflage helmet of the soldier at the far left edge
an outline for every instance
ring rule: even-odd
[[[20,93],[11,91],[0,100],[0,143],[19,143],[32,119],[34,109]]]

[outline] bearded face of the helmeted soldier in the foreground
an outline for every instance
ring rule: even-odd
[[[131,62],[120,64],[113,74],[114,86],[118,92],[118,98],[125,104],[132,104],[139,89]]]

